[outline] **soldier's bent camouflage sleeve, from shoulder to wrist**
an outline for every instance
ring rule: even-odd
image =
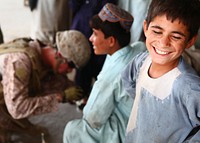
[[[28,96],[30,69],[31,62],[23,53],[9,54],[4,60],[2,84],[5,103],[16,119],[57,110],[55,94]]]

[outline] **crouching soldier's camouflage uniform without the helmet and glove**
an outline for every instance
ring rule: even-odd
[[[0,45],[0,142],[10,131],[34,134],[37,128],[26,117],[56,111],[54,93],[73,85],[42,65],[34,42],[17,39]]]

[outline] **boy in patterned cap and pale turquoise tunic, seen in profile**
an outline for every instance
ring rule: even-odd
[[[94,53],[107,54],[107,58],[83,110],[83,118],[67,124],[64,143],[124,142],[132,100],[116,88],[115,79],[132,57],[146,50],[144,43],[128,45],[132,22],[128,12],[110,3],[91,19],[90,41]]]

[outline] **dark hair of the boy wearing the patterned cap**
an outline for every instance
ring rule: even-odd
[[[130,42],[131,34],[121,27],[119,22],[102,21],[98,15],[95,15],[90,20],[90,27],[101,30],[105,38],[113,36],[117,39],[121,47],[127,46]]]

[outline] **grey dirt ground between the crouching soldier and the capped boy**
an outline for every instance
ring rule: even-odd
[[[42,142],[42,135],[28,136],[26,134],[12,135],[12,140],[15,141],[14,143],[62,143],[63,130],[67,122],[81,116],[82,113],[78,112],[74,105],[60,104],[57,112],[29,118],[33,124],[48,130],[49,134],[44,135],[45,142]]]

